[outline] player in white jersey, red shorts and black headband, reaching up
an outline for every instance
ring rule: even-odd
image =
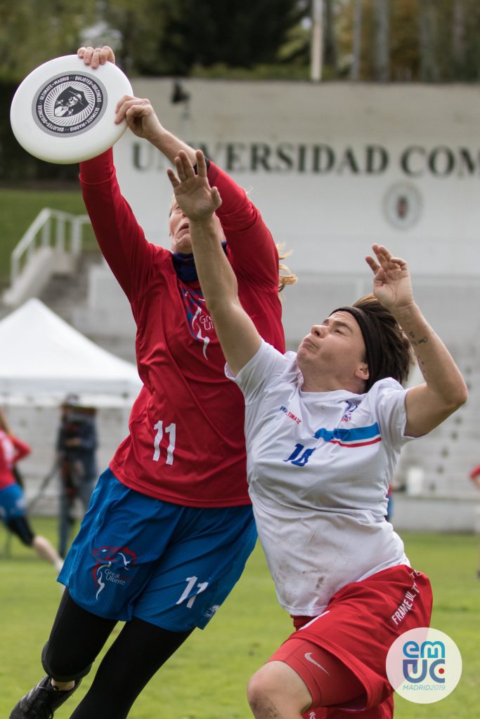
[[[167,170],[190,220],[205,301],[245,397],[250,498],[294,631],[248,685],[255,719],[393,716],[386,655],[430,625],[432,591],[385,520],[402,446],[467,398],[463,377],[420,313],[407,263],[373,244],[373,294],[312,326],[298,351],[265,342],[225,261],[200,151]],[[424,383],[405,390],[412,350]]]

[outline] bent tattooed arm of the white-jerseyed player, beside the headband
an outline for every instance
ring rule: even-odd
[[[373,245],[366,261],[373,272],[373,294],[402,327],[414,349],[425,383],[407,393],[406,434],[427,434],[467,399],[467,388],[453,357],[422,316],[413,298],[407,262],[386,247]]]

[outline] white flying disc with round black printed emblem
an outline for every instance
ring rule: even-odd
[[[115,106],[132,86],[122,70],[105,63],[92,70],[77,55],[40,65],[17,89],[12,130],[30,155],[67,165],[112,147],[127,123],[114,123]]]

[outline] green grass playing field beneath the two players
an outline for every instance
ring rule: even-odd
[[[32,521],[55,541],[55,522]],[[404,533],[407,554],[427,572],[434,590],[432,626],[458,644],[463,674],[456,690],[432,705],[396,700],[396,719],[474,719],[480,698],[480,581],[476,578],[478,537]],[[0,717],[42,676],[40,650],[60,600],[55,572],[17,539],[4,556],[0,531]],[[196,631],[153,678],[130,713],[131,719],[248,719],[245,685],[291,631],[289,616],[276,603],[261,549],[206,630]],[[112,639],[114,635],[112,636]],[[92,671],[91,675],[93,674]],[[55,714],[66,719],[89,687]],[[97,719],[97,718],[92,718]],[[98,718],[100,719],[100,718]]]

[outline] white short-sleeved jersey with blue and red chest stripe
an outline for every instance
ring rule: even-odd
[[[250,498],[281,606],[317,616],[349,582],[408,564],[384,519],[407,390],[303,392],[296,353],[263,341],[237,377],[225,371],[245,396]]]

